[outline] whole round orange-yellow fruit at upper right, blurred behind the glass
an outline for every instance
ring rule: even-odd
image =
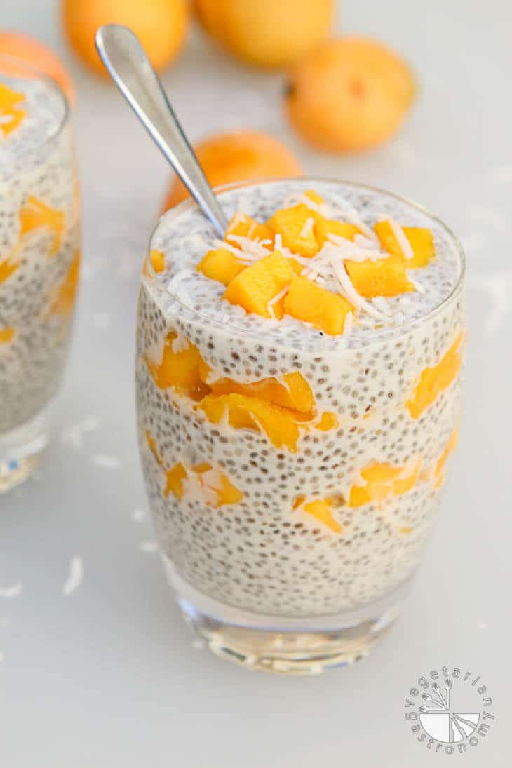
[[[344,153],[395,134],[414,97],[414,74],[393,51],[365,38],[339,38],[293,69],[286,110],[309,144]]]

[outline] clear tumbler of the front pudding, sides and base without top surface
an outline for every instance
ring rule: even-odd
[[[306,180],[312,189],[323,183]],[[163,224],[194,207],[190,200],[160,220],[141,277],[137,422],[164,568],[200,637],[253,669],[316,673],[368,654],[401,611],[457,439],[461,247],[415,204],[347,186],[421,212],[453,246],[459,270],[433,311],[382,329],[365,346],[328,352],[306,349],[300,338],[251,335],[170,293],[153,261],[163,247],[172,253],[170,237],[160,237]],[[219,190],[221,203],[233,187]],[[263,359],[275,361],[276,376],[301,372],[324,429],[301,431],[293,451],[257,430],[211,422],[198,407],[208,379],[190,399],[155,376],[161,362],[187,376],[194,359],[224,376],[239,362],[251,369]]]

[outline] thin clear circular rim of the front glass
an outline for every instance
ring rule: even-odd
[[[362,190],[362,191],[368,191],[372,193],[377,193],[380,195],[384,195],[385,197],[392,197],[395,200],[398,200],[398,202],[405,204],[406,206],[409,206],[413,208],[414,210],[418,211],[419,213],[423,214],[424,216],[428,217],[431,221],[436,223],[438,227],[441,227],[442,230],[444,230],[444,233],[446,233],[449,237],[449,239],[452,241],[455,247],[455,251],[457,253],[457,257],[460,264],[460,273],[457,277],[457,282],[454,284],[453,288],[451,289],[450,293],[448,293],[448,296],[445,296],[444,299],[441,301],[441,303],[434,306],[428,313],[421,315],[420,317],[411,318],[408,320],[407,323],[403,323],[400,326],[388,326],[383,329],[379,329],[378,331],[374,331],[372,333],[372,337],[368,339],[368,341],[365,340],[364,343],[362,343],[360,346],[357,347],[357,349],[365,349],[368,346],[371,346],[373,343],[378,343],[382,339],[385,339],[386,337],[393,337],[393,338],[399,338],[401,336],[406,336],[407,333],[409,333],[412,329],[418,328],[418,326],[421,326],[423,323],[426,323],[430,321],[433,317],[437,316],[438,314],[441,314],[443,310],[445,310],[448,306],[451,305],[451,303],[454,302],[454,300],[457,299],[457,296],[461,293],[463,287],[464,287],[464,277],[466,275],[466,257],[464,254],[464,249],[462,247],[461,241],[458,239],[457,235],[454,233],[453,230],[451,230],[450,227],[448,227],[448,224],[445,224],[443,220],[441,220],[438,216],[435,214],[432,214],[428,208],[424,207],[420,203],[416,203],[415,200],[411,200],[408,197],[405,197],[403,195],[395,194],[395,192],[389,192],[388,190],[382,189],[382,187],[375,187],[372,186],[372,184],[360,184],[357,181],[348,181],[338,178],[329,178],[329,177],[321,177],[321,176],[298,176],[298,177],[266,177],[263,179],[255,179],[255,180],[241,180],[241,181],[235,181],[231,182],[230,184],[220,184],[217,187],[213,187],[213,191],[218,194],[222,195],[224,192],[229,192],[233,189],[238,189],[240,187],[256,187],[261,186],[262,184],[279,184],[282,182],[297,182],[297,181],[304,181],[307,184],[314,185],[315,183],[328,183],[328,184],[342,184],[345,187],[352,187],[354,189]],[[224,328],[226,330],[229,330],[230,333],[239,333],[246,335],[244,333],[243,329],[240,329],[238,326],[236,326],[234,323],[223,323],[220,320],[212,319],[211,317],[204,316],[199,310],[194,309],[193,307],[188,306],[187,304],[184,304],[177,296],[176,293],[171,293],[167,290],[167,286],[164,282],[164,279],[160,276],[160,273],[157,273],[154,270],[153,262],[151,260],[151,250],[153,250],[153,241],[154,237],[157,235],[158,230],[164,223],[164,220],[170,220],[173,217],[179,217],[181,214],[189,210],[190,208],[195,207],[199,209],[199,205],[197,204],[196,200],[193,199],[193,197],[187,197],[186,200],[182,200],[177,205],[173,206],[169,210],[164,211],[163,214],[161,214],[160,218],[158,219],[157,223],[153,227],[153,230],[151,230],[150,237],[147,244],[147,252],[146,252],[146,263],[148,265],[148,269],[150,271],[150,276],[152,280],[156,280],[157,285],[160,287],[160,289],[164,290],[168,296],[172,297],[173,301],[175,301],[178,306],[180,306],[183,310],[185,310],[187,313],[190,313],[191,316],[195,316],[198,319],[202,319],[205,323],[213,324],[215,326],[219,326],[221,328]],[[146,276],[144,276],[144,273],[141,276],[141,282],[143,282],[145,279],[147,279]],[[286,339],[282,339],[279,336],[273,336],[273,343],[276,344],[286,344]],[[335,336],[332,336],[334,339]],[[343,334],[340,335],[340,338],[343,338]],[[356,349],[354,347],[354,349]]]

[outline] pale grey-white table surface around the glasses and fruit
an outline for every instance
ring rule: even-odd
[[[467,248],[461,445],[407,611],[371,657],[322,677],[250,674],[193,647],[154,552],[134,429],[137,280],[168,173],[114,88],[70,61],[84,273],[51,449],[37,477],[0,499],[0,586],[22,585],[0,597],[2,768],[441,764],[448,756],[415,742],[404,699],[443,664],[481,674],[497,717],[451,762],[510,765],[512,10],[508,0],[345,0],[340,17],[418,73],[411,118],[379,151],[309,151],[282,116],[282,78],[236,65],[200,35],[165,83],[193,139],[272,131],[312,174],[420,200]],[[51,0],[2,0],[0,26],[64,51],[56,18]],[[87,420],[97,428],[73,447],[68,431]],[[74,556],[84,580],[65,596]]]

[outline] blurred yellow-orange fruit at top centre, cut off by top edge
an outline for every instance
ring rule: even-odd
[[[282,67],[329,34],[334,0],[195,0],[203,27],[243,61]]]

